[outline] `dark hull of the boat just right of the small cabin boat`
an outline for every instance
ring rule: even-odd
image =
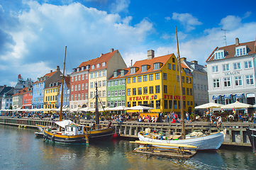
[[[111,140],[113,132],[113,128],[102,128],[99,130],[91,130],[87,132],[87,135],[89,135],[89,141]]]

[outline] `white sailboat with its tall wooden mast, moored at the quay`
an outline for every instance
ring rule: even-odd
[[[179,86],[180,91],[182,91],[182,76],[181,76],[181,62],[179,57],[179,44],[178,44],[178,37],[177,37],[177,28],[176,28],[176,38],[177,38],[177,51],[178,51],[178,62],[179,62]],[[216,150],[221,147],[224,138],[226,137],[226,129],[221,132],[213,132],[209,134],[201,135],[185,135],[185,124],[184,124],[184,111],[183,111],[183,96],[181,95],[181,111],[182,113],[182,135],[164,135],[163,133],[153,133],[150,132],[150,129],[146,129],[146,132],[138,132],[139,140],[143,142],[157,142],[160,144],[181,144],[181,145],[191,145],[197,147],[196,150]],[[160,147],[160,145],[153,145],[155,147]],[[169,146],[165,146],[169,147]],[[174,147],[169,147],[174,148]],[[194,148],[185,148],[188,150],[192,150]]]

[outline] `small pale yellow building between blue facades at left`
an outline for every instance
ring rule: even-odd
[[[50,83],[50,86],[45,88],[44,108],[57,108],[57,96],[60,91],[61,81]]]

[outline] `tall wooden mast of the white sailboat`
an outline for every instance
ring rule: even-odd
[[[178,42],[178,34],[177,27],[176,30],[176,40],[177,40],[177,53],[178,53],[178,64],[179,64],[179,92],[180,92],[180,113],[182,114],[182,138],[185,139],[185,122],[184,122],[184,108],[183,108],[183,93],[182,93],[182,64],[179,56],[179,42]]]

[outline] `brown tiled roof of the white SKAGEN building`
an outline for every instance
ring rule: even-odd
[[[250,42],[240,43],[239,45],[234,44],[234,45],[228,45],[228,46],[224,46],[224,47],[216,47],[213,50],[213,52],[211,52],[211,55],[208,57],[206,62],[214,60],[214,57],[215,57],[214,52],[216,50],[226,51],[225,58],[235,57],[235,47],[239,47],[239,46],[243,46],[243,45],[246,45],[249,48],[249,51],[248,51],[247,55],[252,55],[252,54],[255,53],[255,43],[256,43],[256,41],[250,41]]]

